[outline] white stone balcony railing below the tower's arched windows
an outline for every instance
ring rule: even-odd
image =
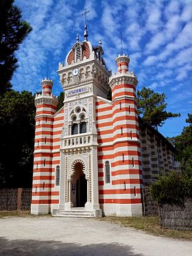
[[[97,135],[92,133],[70,135],[67,137],[63,137],[61,141],[61,149],[63,150],[82,148],[93,145],[97,145]]]

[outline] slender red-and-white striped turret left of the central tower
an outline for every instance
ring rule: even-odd
[[[42,80],[42,93],[36,95],[36,133],[34,147],[34,178],[32,214],[49,213],[51,196],[51,165],[53,115],[58,100],[52,95],[53,81]]]

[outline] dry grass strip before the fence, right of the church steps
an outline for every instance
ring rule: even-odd
[[[192,231],[175,231],[161,229],[158,217],[104,217],[101,220],[143,230],[152,235],[165,236],[177,239],[192,240]]]

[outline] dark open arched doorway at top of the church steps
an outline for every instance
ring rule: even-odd
[[[71,176],[71,202],[73,207],[84,207],[87,202],[87,181],[81,162],[75,163]]]

